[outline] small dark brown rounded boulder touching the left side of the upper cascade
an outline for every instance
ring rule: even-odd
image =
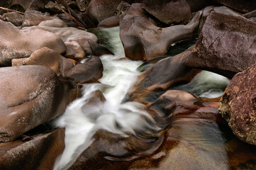
[[[92,56],[87,62],[77,64],[67,73],[66,77],[79,84],[94,83],[102,77],[103,65],[99,57]]]

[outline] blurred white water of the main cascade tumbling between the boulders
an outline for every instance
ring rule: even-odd
[[[104,65],[103,77],[99,79],[101,84],[84,84],[82,98],[72,102],[65,113],[55,120],[56,127],[65,127],[65,150],[55,162],[55,170],[68,169],[79,154],[89,147],[96,130],[104,129],[126,136],[126,132],[135,134],[134,130],[152,128],[148,121],[142,118],[152,120],[143,110],[143,105],[135,102],[121,103],[135,82],[139,74],[136,69],[142,62],[118,60],[125,57],[119,28],[102,30],[108,31],[112,36],[108,42],[115,46],[115,56],[100,57]],[[91,93],[97,90],[104,94],[106,101],[87,103],[92,97]]]

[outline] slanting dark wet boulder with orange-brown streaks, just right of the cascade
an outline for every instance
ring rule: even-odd
[[[126,96],[128,100],[152,102],[172,86],[191,81],[200,71],[185,65],[189,55],[190,49],[174,57],[167,57],[140,74]]]

